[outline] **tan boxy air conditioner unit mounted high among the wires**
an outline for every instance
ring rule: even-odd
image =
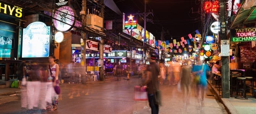
[[[87,14],[86,25],[101,31],[101,28],[103,27],[103,19],[96,14]]]

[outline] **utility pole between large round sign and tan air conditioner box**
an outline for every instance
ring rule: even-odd
[[[86,0],[82,1],[82,24],[83,27],[86,26]],[[85,81],[85,75],[86,75],[86,33],[82,30],[82,39],[83,39],[83,45],[81,45],[81,66],[82,66],[82,71],[83,71],[83,84],[86,84]]]

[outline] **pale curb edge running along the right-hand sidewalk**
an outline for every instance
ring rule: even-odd
[[[210,85],[211,89],[214,91],[216,96],[218,97],[218,100],[224,105],[226,111],[228,114],[239,114],[237,110],[232,106],[232,104],[228,101],[228,98],[222,98],[219,96],[219,92],[214,89],[214,87],[211,85],[211,83],[207,80],[207,83]]]

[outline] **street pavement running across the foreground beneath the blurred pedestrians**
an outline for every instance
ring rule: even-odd
[[[1,114],[150,114],[148,101],[134,101],[134,86],[140,85],[141,79],[130,81],[111,81],[101,83],[62,84],[58,109],[40,112],[24,111],[19,100],[0,105]],[[193,85],[194,86],[194,85]],[[193,87],[192,87],[193,88]],[[227,114],[224,106],[216,101],[209,87],[206,92],[205,105],[199,106],[194,89],[190,96],[190,104],[185,108],[183,93],[177,86],[161,85],[163,106],[160,114]],[[209,95],[209,96],[207,96]]]

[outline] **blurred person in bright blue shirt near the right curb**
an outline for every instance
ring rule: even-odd
[[[192,67],[192,74],[194,76],[200,76],[199,81],[196,83],[196,96],[198,97],[199,105],[202,106],[204,105],[205,93],[207,89],[206,74],[210,74],[211,69],[208,65],[204,64],[199,57],[196,59],[196,62],[196,65]]]

